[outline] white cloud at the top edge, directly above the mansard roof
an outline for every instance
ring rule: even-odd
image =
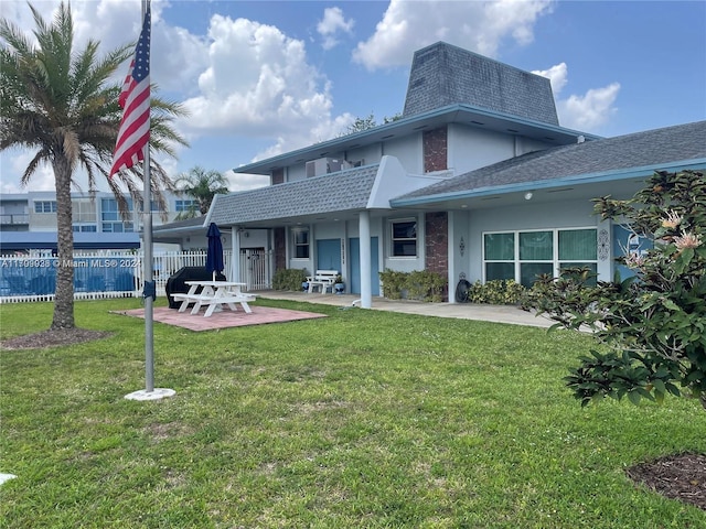
[[[408,65],[411,51],[437,41],[492,57],[507,37],[531,43],[534,23],[550,13],[552,6],[552,0],[392,0],[373,36],[359,43],[353,61],[368,71]]]

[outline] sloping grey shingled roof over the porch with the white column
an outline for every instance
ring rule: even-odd
[[[378,166],[366,165],[334,175],[217,195],[210,222],[227,225],[365,209]]]

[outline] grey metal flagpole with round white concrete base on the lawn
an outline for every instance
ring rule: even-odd
[[[149,9],[150,0],[142,0],[142,20]],[[150,21],[151,23],[151,21]],[[147,117],[148,129],[150,127],[149,115]],[[142,151],[142,299],[145,301],[145,390],[126,395],[131,400],[157,400],[172,397],[173,389],[154,389],[154,321],[153,296],[156,296],[154,271],[152,270],[152,195],[150,174],[150,142],[145,144]]]

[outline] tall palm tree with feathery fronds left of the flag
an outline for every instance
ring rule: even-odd
[[[142,171],[135,166],[113,179],[108,172],[120,126],[118,106],[120,85],[110,76],[131,55],[127,44],[97,56],[97,41],[74,50],[71,7],[62,4],[47,23],[30,6],[36,29],[33,44],[6,19],[0,21],[0,150],[20,148],[34,151],[34,158],[21,179],[26,185],[41,164],[54,170],[56,188],[57,258],[56,292],[52,328],[73,328],[74,324],[74,235],[72,229],[72,186],[79,188],[75,172],[82,168],[88,177],[88,192],[97,190],[97,177],[106,179],[124,218],[128,215],[127,190],[135,204],[141,204]],[[152,98],[150,149],[171,156],[171,145],[186,144],[172,128],[180,105]],[[173,183],[156,163],[151,163],[150,188],[160,209],[165,212],[162,188]],[[139,164],[138,164],[139,165]],[[149,207],[149,206],[148,206]]]

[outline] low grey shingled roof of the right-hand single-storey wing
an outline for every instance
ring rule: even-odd
[[[632,174],[683,162],[706,166],[706,121],[536,151],[445,180],[391,201],[409,201],[558,179]]]

